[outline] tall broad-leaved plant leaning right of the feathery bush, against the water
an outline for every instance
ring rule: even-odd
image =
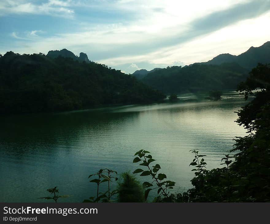
[[[158,189],[157,190],[158,197],[160,195],[163,195],[164,197],[169,198],[169,193],[170,193],[169,189],[173,189],[173,186],[175,186],[176,182],[170,181],[170,180],[166,180],[166,181],[164,180],[167,178],[167,176],[164,173],[158,173],[160,172],[160,169],[161,169],[159,164],[152,166],[152,168],[149,167],[150,163],[152,163],[153,161],[156,161],[152,159],[150,152],[141,149],[140,151],[135,153],[134,156],[138,156],[138,157],[135,157],[133,159],[133,163],[142,161],[140,165],[146,166],[148,170],[144,171],[143,169],[136,169],[133,173],[141,173],[140,176],[152,176],[152,179],[153,179],[152,183],[144,182],[142,184],[144,189],[147,188],[145,190],[145,200],[147,199],[149,192],[153,189]],[[157,187],[154,187],[153,183],[156,183]],[[150,188],[150,187],[153,187],[153,188]]]

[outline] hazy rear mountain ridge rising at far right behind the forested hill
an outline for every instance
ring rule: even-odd
[[[243,68],[251,70],[256,67],[258,62],[266,64],[270,62],[270,41],[260,47],[250,47],[246,52],[235,56],[231,54],[220,54],[205,64],[238,63]]]

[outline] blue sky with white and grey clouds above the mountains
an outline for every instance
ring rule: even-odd
[[[66,48],[127,74],[270,41],[270,0],[0,0],[0,53]]]

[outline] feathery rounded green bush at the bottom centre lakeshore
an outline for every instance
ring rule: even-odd
[[[130,173],[122,173],[123,181],[118,183],[118,202],[144,202],[141,183]]]

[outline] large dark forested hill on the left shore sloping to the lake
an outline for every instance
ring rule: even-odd
[[[74,110],[163,98],[135,77],[95,62],[42,53],[7,52],[0,57],[0,113]]]

